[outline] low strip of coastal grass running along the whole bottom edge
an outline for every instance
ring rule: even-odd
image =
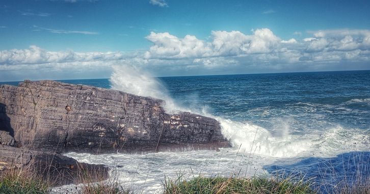
[[[141,189],[133,189],[118,183],[118,177],[112,175],[107,180],[93,172],[81,171],[78,174],[80,185],[70,188],[68,193],[81,194],[131,194],[143,193]],[[163,194],[180,193],[370,193],[370,178],[355,181],[354,184],[338,180],[336,185],[321,188],[313,179],[297,179],[295,177],[278,178],[276,176],[194,176],[186,178],[179,175],[177,179],[165,177]],[[43,194],[51,193],[55,179],[42,177],[29,169],[12,169],[0,176],[0,193]],[[63,192],[63,191],[62,191]]]

